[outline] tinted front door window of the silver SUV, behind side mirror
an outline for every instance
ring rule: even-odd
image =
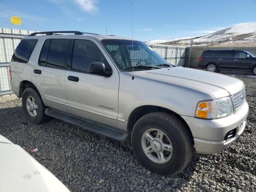
[[[108,63],[102,52],[94,42],[76,39],[72,55],[72,69],[88,72],[88,66],[92,62],[103,62],[108,68]]]

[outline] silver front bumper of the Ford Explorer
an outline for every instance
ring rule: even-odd
[[[209,120],[182,116],[194,137],[196,152],[214,154],[228,148],[244,131],[248,110],[248,103],[245,101],[238,112],[224,118]],[[226,134],[234,129],[235,135],[224,140]]]

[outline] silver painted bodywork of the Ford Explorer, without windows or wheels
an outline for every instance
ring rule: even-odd
[[[30,38],[38,39],[38,43],[29,62],[10,63],[11,85],[16,95],[19,95],[20,83],[27,80],[36,86],[46,106],[122,130],[127,130],[128,118],[134,109],[144,105],[164,107],[185,120],[192,132],[196,151],[202,154],[220,152],[240,135],[224,144],[226,133],[243,123],[245,126],[247,102],[240,110],[224,118],[195,118],[199,101],[231,96],[244,88],[241,80],[182,67],[136,71],[132,80],[132,72],[120,71],[101,43],[104,38],[127,38],[100,35],[26,37]],[[104,54],[112,68],[112,75],[104,77],[38,65],[40,50],[48,38],[91,40]],[[41,70],[42,74],[34,74],[34,69]],[[68,81],[68,76],[77,76],[79,82]]]

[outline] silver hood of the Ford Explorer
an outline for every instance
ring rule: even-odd
[[[244,88],[244,83],[239,79],[184,67],[136,71],[134,74],[197,88],[212,94],[215,98],[235,94]]]

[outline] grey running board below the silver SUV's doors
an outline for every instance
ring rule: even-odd
[[[118,141],[125,141],[129,136],[129,133],[124,130],[120,130],[118,128],[104,125],[92,120],[79,118],[78,116],[72,116],[71,114],[53,108],[47,108],[44,113],[53,118],[68,122],[72,125],[84,128],[98,134],[102,134]]]

